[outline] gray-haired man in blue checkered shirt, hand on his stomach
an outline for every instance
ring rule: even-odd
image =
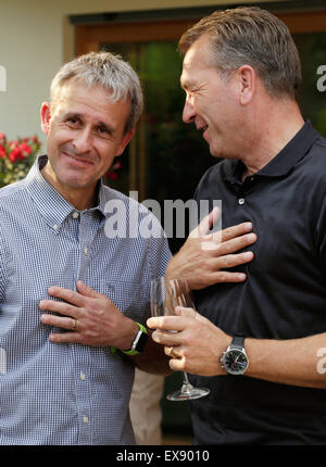
[[[47,155],[0,191],[0,444],[133,444],[135,365],[167,371],[142,326],[167,241],[151,213],[101,182],[141,109],[120,58],[64,65],[41,106]],[[145,218],[150,235],[138,231]]]

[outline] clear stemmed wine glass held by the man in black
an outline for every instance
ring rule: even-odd
[[[152,316],[175,315],[176,306],[195,308],[190,288],[187,281],[181,279],[167,280],[158,277],[151,281],[151,314]],[[177,331],[171,331],[177,332]],[[184,371],[181,389],[168,394],[170,401],[186,401],[199,399],[208,395],[210,390],[206,388],[195,388],[188,380],[187,373]]]

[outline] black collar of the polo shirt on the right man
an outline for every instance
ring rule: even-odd
[[[310,121],[306,121],[294,137],[283,148],[283,150],[272,159],[254,176],[261,177],[281,177],[287,175],[294,165],[308,153],[312,144],[321,136],[314,129]],[[241,178],[244,164],[241,161],[229,161],[226,169],[226,179]]]

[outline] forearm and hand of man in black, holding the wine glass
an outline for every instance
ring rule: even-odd
[[[170,361],[171,368],[202,376],[226,375],[220,358],[231,337],[191,308],[180,307],[177,313],[179,316],[147,323],[158,329],[152,338],[165,345],[166,354],[174,348],[176,357]],[[179,332],[166,332],[171,329]],[[326,332],[291,340],[247,338],[244,346],[249,358],[244,377],[326,389]]]

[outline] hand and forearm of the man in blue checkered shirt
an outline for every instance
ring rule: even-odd
[[[138,325],[125,316],[114,303],[83,282],[77,282],[77,292],[61,287],[51,287],[49,294],[63,302],[42,300],[40,310],[60,313],[63,316],[42,314],[45,325],[58,326],[71,332],[51,333],[53,343],[80,343],[93,346],[114,346],[126,351],[139,330]],[[76,323],[76,325],[75,325]],[[74,329],[74,330],[73,330]],[[128,356],[140,369],[168,374],[168,358],[164,349],[148,339],[143,352]]]

